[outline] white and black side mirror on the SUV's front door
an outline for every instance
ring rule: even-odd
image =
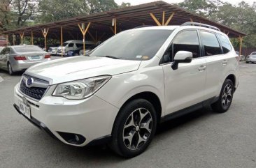
[[[191,63],[193,58],[192,52],[186,52],[186,51],[178,51],[175,56],[173,63],[171,64],[171,68],[173,70],[178,69],[178,63]]]

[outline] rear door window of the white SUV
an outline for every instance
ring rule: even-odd
[[[204,45],[204,56],[222,54],[220,44],[215,33],[200,31],[201,42]]]

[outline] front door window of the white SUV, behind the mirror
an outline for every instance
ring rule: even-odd
[[[192,52],[193,58],[200,56],[199,38],[196,30],[182,31],[174,38],[173,43],[164,53],[163,63],[173,61],[178,51]]]

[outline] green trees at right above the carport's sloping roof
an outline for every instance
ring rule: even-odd
[[[241,1],[234,6],[220,0],[185,0],[178,3],[178,5],[210,20],[246,33],[248,36],[243,38],[243,46],[256,47],[256,3],[250,6],[245,1]],[[237,40],[232,40],[232,43],[234,47],[239,46]]]

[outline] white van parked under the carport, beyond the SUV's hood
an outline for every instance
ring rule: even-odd
[[[85,45],[94,45],[92,41],[85,41]],[[59,46],[57,49],[57,55],[61,56],[62,54],[65,56],[66,52],[69,51],[80,51],[83,48],[82,40],[69,40],[63,43],[63,47]]]

